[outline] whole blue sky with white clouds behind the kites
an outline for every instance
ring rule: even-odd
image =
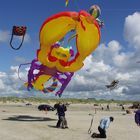
[[[18,78],[21,63],[31,62],[39,49],[39,30],[49,17],[62,11],[88,11],[92,5],[101,8],[101,41],[86,58],[84,67],[75,73],[63,98],[97,98],[140,100],[140,1],[139,0],[0,0],[0,96],[55,97],[38,91],[27,91]],[[27,26],[20,50],[10,48],[13,25]],[[28,65],[20,69],[27,81]],[[105,85],[118,79],[110,91]]]

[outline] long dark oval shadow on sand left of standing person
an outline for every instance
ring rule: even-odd
[[[9,117],[7,119],[3,120],[9,120],[9,121],[56,121],[57,119],[51,119],[47,117],[34,117],[34,116],[28,116],[28,115],[18,115]]]

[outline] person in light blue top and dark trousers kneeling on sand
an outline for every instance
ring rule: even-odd
[[[106,138],[106,129],[109,127],[110,123],[113,122],[113,117],[105,117],[101,119],[100,125],[98,126],[98,130],[100,134],[93,133],[91,135],[92,138]]]

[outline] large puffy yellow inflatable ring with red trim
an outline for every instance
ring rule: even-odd
[[[57,26],[55,26],[57,25]],[[67,58],[56,65],[49,59],[51,46],[60,41],[68,32],[76,32],[77,54],[72,61]],[[75,72],[82,68],[83,61],[90,55],[100,42],[100,28],[98,22],[86,11],[61,12],[49,17],[40,30],[40,49],[38,50],[38,60],[48,67],[56,67],[62,72]],[[60,50],[60,48],[59,48]],[[57,51],[55,51],[57,52]],[[64,50],[61,48],[61,53]],[[54,54],[54,53],[53,53]],[[67,60],[67,62],[66,62]]]

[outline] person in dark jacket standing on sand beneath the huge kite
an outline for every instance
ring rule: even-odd
[[[59,128],[61,125],[63,129],[68,128],[67,120],[65,118],[65,112],[67,111],[66,105],[59,102],[58,104],[55,104],[54,107],[57,109],[57,115],[58,115],[58,122],[56,124],[56,127]]]

